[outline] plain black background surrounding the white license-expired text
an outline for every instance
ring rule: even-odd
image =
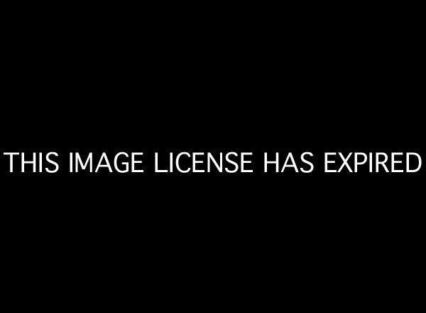
[[[21,8],[2,39],[1,152],[253,151],[256,174],[3,171],[9,295],[263,308],[416,297],[424,169],[327,175],[322,154],[424,157],[420,20],[175,9]],[[304,151],[315,173],[261,174],[263,152]]]

